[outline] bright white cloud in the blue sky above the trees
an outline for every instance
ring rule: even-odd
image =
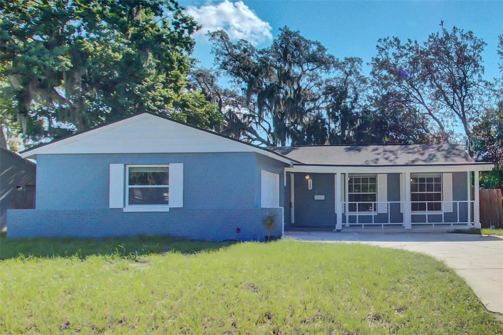
[[[231,40],[245,39],[255,45],[273,38],[271,25],[261,20],[242,1],[232,3],[224,0],[217,5],[189,6],[185,12],[203,26],[197,37],[208,31],[223,29]]]

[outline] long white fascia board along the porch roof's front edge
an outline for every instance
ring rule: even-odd
[[[493,164],[466,164],[466,165],[397,165],[397,166],[319,166],[319,165],[294,165],[285,168],[285,172],[310,172],[310,173],[400,173],[400,172],[466,172],[490,171]]]

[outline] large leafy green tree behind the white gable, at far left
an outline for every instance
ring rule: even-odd
[[[141,111],[213,128],[187,74],[197,23],[174,0],[14,0],[0,6],[3,115],[44,141]]]

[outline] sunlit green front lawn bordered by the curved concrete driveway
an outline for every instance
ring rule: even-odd
[[[0,333],[503,332],[454,271],[422,254],[290,240],[103,241],[2,241]]]

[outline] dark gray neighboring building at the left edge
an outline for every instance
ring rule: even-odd
[[[35,208],[36,164],[0,147],[0,231],[7,227],[7,209]]]

